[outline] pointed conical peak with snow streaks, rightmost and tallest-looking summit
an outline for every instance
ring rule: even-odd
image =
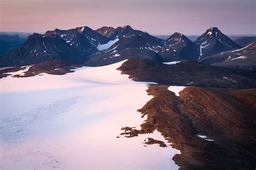
[[[231,49],[240,48],[217,27],[211,27],[194,41],[199,48],[199,59]]]

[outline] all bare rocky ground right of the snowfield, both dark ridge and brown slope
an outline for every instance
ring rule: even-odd
[[[118,69],[134,81],[158,83],[149,86],[153,98],[138,110],[146,121],[140,129],[123,128],[121,135],[159,131],[181,151],[173,157],[180,169],[255,167],[255,72],[141,59],[129,59]],[[169,86],[190,87],[177,96]]]

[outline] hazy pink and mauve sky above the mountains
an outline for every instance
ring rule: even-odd
[[[256,34],[255,0],[0,0],[0,31],[130,25],[150,34]]]

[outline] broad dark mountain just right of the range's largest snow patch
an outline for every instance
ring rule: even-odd
[[[127,34],[104,51],[91,55],[86,64],[103,66],[129,58],[164,61],[161,56],[156,54],[157,49],[163,47],[163,45],[162,41],[147,32],[136,36]]]

